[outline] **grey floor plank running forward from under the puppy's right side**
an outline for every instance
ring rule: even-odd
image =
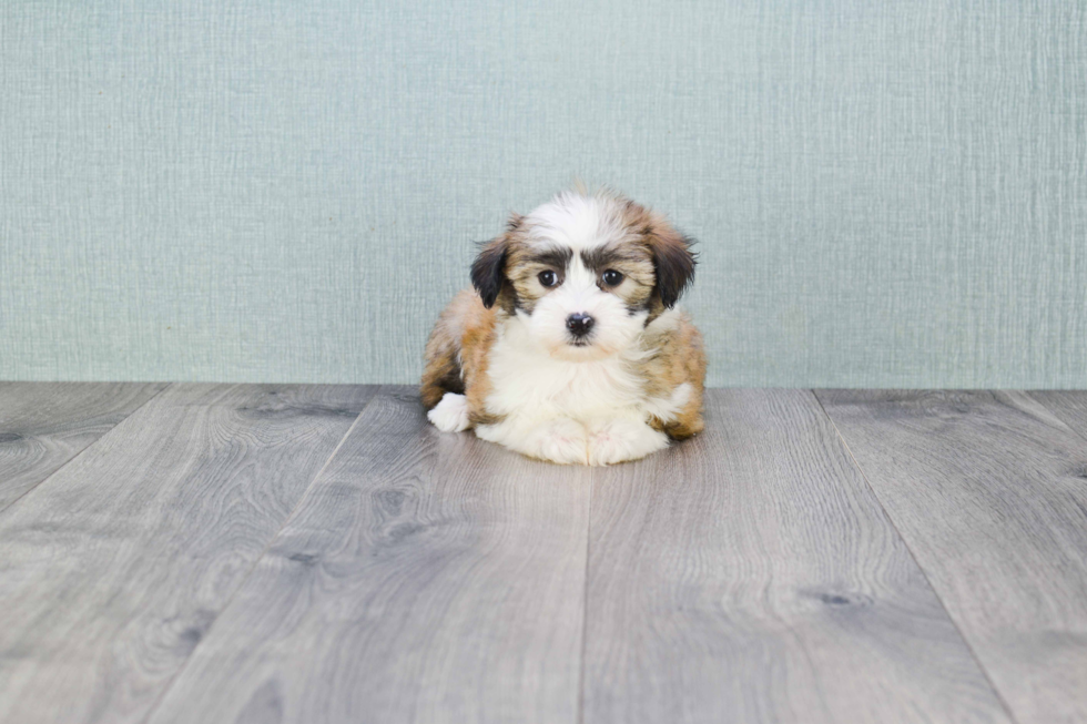
[[[806,390],[595,476],[585,721],[1006,722]]]

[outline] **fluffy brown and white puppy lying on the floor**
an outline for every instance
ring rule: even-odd
[[[565,192],[486,244],[443,312],[421,398],[445,431],[563,463],[636,460],[702,430],[702,336],[674,307],[692,239],[611,192]]]

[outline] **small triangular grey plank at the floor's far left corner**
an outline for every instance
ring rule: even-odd
[[[165,386],[0,383],[0,510],[55,472]]]

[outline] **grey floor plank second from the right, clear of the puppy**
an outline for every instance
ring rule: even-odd
[[[1024,394],[823,391],[1023,724],[1087,721],[1087,445]]]

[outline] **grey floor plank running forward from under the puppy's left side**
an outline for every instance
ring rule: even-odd
[[[589,471],[387,388],[152,722],[575,722]]]

